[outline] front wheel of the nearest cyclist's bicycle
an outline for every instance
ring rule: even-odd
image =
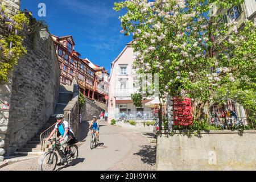
[[[47,152],[42,159],[41,171],[54,171],[57,161],[58,157],[55,152]]]

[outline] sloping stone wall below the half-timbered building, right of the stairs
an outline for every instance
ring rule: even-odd
[[[82,115],[82,121],[91,121],[93,116],[96,115],[99,118],[101,111],[105,113],[105,110],[97,106],[96,103],[89,98],[85,97],[85,105],[82,106],[80,114]]]

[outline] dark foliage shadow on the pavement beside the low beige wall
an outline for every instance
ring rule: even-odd
[[[156,163],[156,146],[139,146],[141,150],[139,152],[134,153],[134,155],[141,156],[141,160],[143,163],[154,166]]]

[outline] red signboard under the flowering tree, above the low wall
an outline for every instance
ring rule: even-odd
[[[193,125],[191,98],[173,97],[174,125]]]

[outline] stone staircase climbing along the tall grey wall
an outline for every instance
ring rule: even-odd
[[[44,154],[44,152],[41,151],[40,134],[42,134],[49,127],[56,123],[56,115],[64,113],[63,110],[68,105],[68,102],[72,100],[72,97],[73,86],[61,86],[59,93],[59,101],[56,105],[54,114],[51,115],[49,120],[46,122],[43,128],[38,131],[35,137],[31,138],[31,140],[29,140],[26,145],[24,145],[22,148],[19,148],[18,151],[14,152],[14,154],[21,156],[40,156]],[[48,151],[49,148],[51,148],[51,146],[48,146],[46,151]]]

